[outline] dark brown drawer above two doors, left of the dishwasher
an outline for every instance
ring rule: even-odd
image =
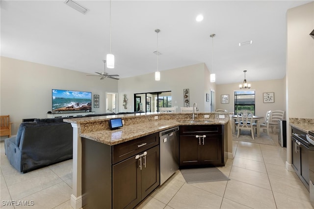
[[[157,144],[159,144],[158,133],[114,145],[112,146],[112,164],[119,163]]]

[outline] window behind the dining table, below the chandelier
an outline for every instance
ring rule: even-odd
[[[255,115],[255,91],[235,91],[235,115],[241,110]]]

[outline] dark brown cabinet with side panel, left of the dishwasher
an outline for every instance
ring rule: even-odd
[[[134,208],[159,186],[158,133],[117,145],[82,138],[82,208]]]

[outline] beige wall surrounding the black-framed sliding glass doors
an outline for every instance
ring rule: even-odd
[[[123,100],[123,94],[127,94],[128,108],[125,112],[132,112],[134,93],[171,91],[172,106],[178,106],[177,112],[181,112],[183,89],[189,89],[190,107],[196,102],[200,112],[208,112],[206,93],[209,93],[209,88],[215,88],[214,84],[208,83],[209,70],[204,63],[160,71],[160,81],[155,81],[154,73],[123,78],[119,80],[119,101]],[[121,112],[122,104],[119,102]]]

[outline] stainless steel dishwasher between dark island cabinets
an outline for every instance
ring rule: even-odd
[[[179,169],[179,127],[159,132],[160,185]]]

